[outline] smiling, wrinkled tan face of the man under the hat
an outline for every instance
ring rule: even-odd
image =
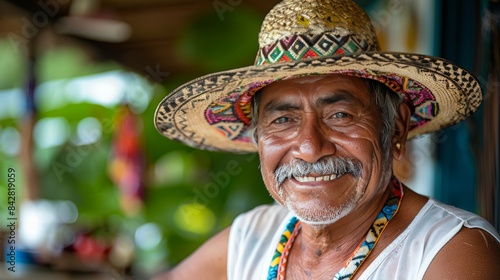
[[[381,114],[364,80],[307,76],[273,83],[261,94],[261,171],[275,200],[304,222],[331,224],[385,190],[392,164],[384,162]],[[275,179],[283,165],[329,158],[340,158],[347,167],[292,172],[280,185]],[[360,170],[351,170],[357,166]]]

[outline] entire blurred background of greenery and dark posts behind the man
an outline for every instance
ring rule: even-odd
[[[499,229],[499,1],[356,2],[383,49],[479,79],[479,112],[412,141],[396,172]],[[276,3],[0,0],[0,278],[147,279],[272,203],[256,155],[174,143],[153,114],[182,83],[253,64]]]

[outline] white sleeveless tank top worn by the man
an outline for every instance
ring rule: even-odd
[[[229,235],[228,279],[267,279],[274,250],[291,217],[281,205],[259,206],[238,216]],[[483,218],[429,199],[359,279],[422,279],[434,256],[462,226],[481,228],[500,242],[496,230]]]

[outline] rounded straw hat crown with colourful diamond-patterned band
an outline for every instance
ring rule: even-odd
[[[277,4],[262,23],[259,47],[257,65],[380,50],[370,18],[352,0]]]

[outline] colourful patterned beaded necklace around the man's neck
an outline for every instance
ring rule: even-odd
[[[347,261],[344,268],[334,276],[334,280],[351,279],[354,276],[363,261],[377,244],[389,221],[398,212],[403,198],[403,185],[395,177],[392,178],[390,185],[392,190],[391,194],[373,222],[373,225],[368,230],[365,240],[360,243],[358,248],[354,251],[353,257]],[[293,242],[300,228],[300,221],[296,217],[292,217],[281,235],[278,246],[274,252],[267,280],[285,280],[288,256],[290,255],[290,250],[292,249]]]

